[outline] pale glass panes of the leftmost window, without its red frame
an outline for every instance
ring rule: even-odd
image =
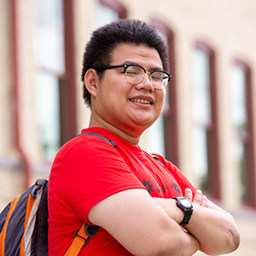
[[[38,0],[36,14],[36,113],[44,157],[52,159],[61,145],[59,76],[65,71],[62,1]]]

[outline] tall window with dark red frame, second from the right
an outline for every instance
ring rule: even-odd
[[[192,55],[192,168],[201,189],[219,198],[215,87],[212,49],[198,42]]]

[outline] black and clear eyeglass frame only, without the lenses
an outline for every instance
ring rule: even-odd
[[[126,78],[126,71],[127,71],[127,68],[128,67],[140,67],[143,69],[144,71],[144,75],[143,75],[143,78],[138,81],[137,83],[132,83],[131,81],[129,81],[127,78]],[[167,76],[168,76],[168,82],[166,83],[166,86],[168,85],[168,83],[170,82],[170,80],[172,79],[172,74],[170,73],[167,73],[166,71],[163,71],[163,70],[154,70],[152,72],[148,72],[146,71],[146,69],[140,65],[137,65],[137,64],[122,64],[122,65],[108,65],[108,66],[102,66],[102,67],[96,67],[95,69],[96,70],[108,70],[108,69],[113,69],[113,68],[119,68],[119,67],[124,67],[124,73],[125,73],[125,79],[127,82],[131,83],[131,84],[139,84],[143,81],[144,77],[145,77],[145,73],[148,73],[149,74],[149,78],[150,78],[150,82],[151,82],[151,85],[154,87],[153,83],[152,83],[152,74],[155,73],[155,72],[160,72],[160,73],[165,73]],[[164,85],[164,84],[163,84]],[[157,87],[154,87],[154,89],[159,89],[159,90],[162,90],[162,89],[165,89],[166,86],[164,86],[163,88],[157,88]]]

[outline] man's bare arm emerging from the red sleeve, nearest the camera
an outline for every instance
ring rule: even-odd
[[[133,255],[191,256],[200,249],[199,241],[169,218],[144,189],[108,196],[90,209],[88,219]]]

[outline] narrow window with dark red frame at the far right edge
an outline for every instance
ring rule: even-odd
[[[250,69],[235,61],[230,69],[231,152],[240,174],[241,201],[256,207],[251,90]]]

